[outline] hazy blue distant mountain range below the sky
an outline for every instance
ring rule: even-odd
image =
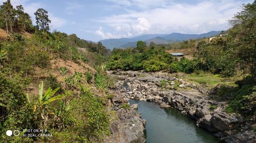
[[[155,44],[168,44],[175,41],[183,41],[189,39],[198,39],[204,37],[211,37],[220,34],[221,31],[211,31],[203,34],[146,34],[133,38],[120,38],[120,39],[105,39],[100,40],[106,48],[126,48],[126,47],[136,47],[137,41],[144,41],[147,44],[154,42]]]

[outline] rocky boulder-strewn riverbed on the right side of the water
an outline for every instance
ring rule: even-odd
[[[226,102],[210,99],[209,94],[215,94],[218,86],[209,90],[161,72],[110,71],[110,74],[119,79],[115,90],[127,99],[152,101],[160,107],[174,107],[195,119],[197,126],[214,132],[225,142],[256,142],[253,130],[255,118],[245,120],[240,115],[226,113]],[[120,112],[125,113],[129,115]]]

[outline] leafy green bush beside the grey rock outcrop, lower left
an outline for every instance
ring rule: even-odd
[[[80,139],[86,137],[90,142],[100,142],[102,134],[110,134],[109,116],[98,97],[94,97],[89,89],[85,88],[80,98],[71,102],[71,112],[77,123],[74,129]]]

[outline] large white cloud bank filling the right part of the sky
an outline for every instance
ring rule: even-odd
[[[111,37],[141,34],[169,34],[173,32],[200,34],[213,30],[226,30],[228,20],[239,11],[242,2],[203,1],[193,4],[174,3],[165,0],[106,0],[125,7],[138,5],[140,11],[130,8],[125,14],[115,14],[98,19],[98,22],[113,27]],[[172,2],[172,3],[169,3]],[[158,7],[149,8],[152,5]],[[104,26],[104,25],[103,25]],[[102,30],[102,28],[101,28]],[[102,37],[102,36],[101,36]],[[103,38],[103,37],[102,37]]]

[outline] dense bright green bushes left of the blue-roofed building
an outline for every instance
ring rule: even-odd
[[[113,49],[107,67],[111,70],[159,71],[167,69],[172,60],[172,56],[161,46],[143,50],[141,53],[137,49]]]

